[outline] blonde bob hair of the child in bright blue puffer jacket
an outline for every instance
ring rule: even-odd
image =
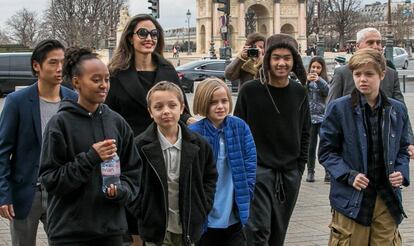
[[[197,89],[195,91],[193,103],[194,114],[207,117],[211,105],[211,99],[213,98],[213,93],[220,88],[224,88],[226,90],[226,94],[230,104],[229,110],[231,111],[231,109],[233,108],[233,100],[231,98],[231,93],[226,83],[224,83],[223,80],[218,78],[208,78],[203,80],[197,86]]]

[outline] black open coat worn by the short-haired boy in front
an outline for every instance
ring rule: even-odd
[[[201,237],[206,226],[217,181],[217,170],[210,145],[180,123],[182,149],[179,178],[179,209],[183,226],[183,242],[190,245]],[[135,138],[143,160],[143,171],[138,198],[130,211],[138,218],[141,238],[160,244],[167,230],[168,184],[167,171],[157,125],[151,124]]]

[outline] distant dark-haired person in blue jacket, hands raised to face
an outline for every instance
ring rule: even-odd
[[[308,66],[306,89],[308,90],[311,127],[309,133],[308,175],[307,182],[315,182],[316,146],[318,145],[319,128],[325,115],[325,100],[328,96],[328,75],[326,63],[322,57],[314,56]],[[329,182],[329,174],[325,172],[325,182]]]

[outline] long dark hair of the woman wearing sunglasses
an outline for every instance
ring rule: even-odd
[[[134,35],[134,29],[137,24],[141,21],[151,21],[159,32],[157,46],[155,47],[156,53],[160,56],[163,56],[164,50],[164,30],[162,29],[160,23],[154,19],[151,15],[148,14],[139,14],[132,17],[128,24],[125,26],[124,31],[122,32],[121,39],[119,41],[118,47],[116,48],[114,55],[109,62],[109,72],[115,74],[119,71],[126,70],[130,66],[134,65],[135,50],[134,45],[131,44],[131,37]]]

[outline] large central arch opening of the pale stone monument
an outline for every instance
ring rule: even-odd
[[[265,6],[253,4],[247,9],[245,15],[246,36],[253,32],[262,33],[263,26],[267,35],[267,26],[269,26],[270,20],[269,11]]]

